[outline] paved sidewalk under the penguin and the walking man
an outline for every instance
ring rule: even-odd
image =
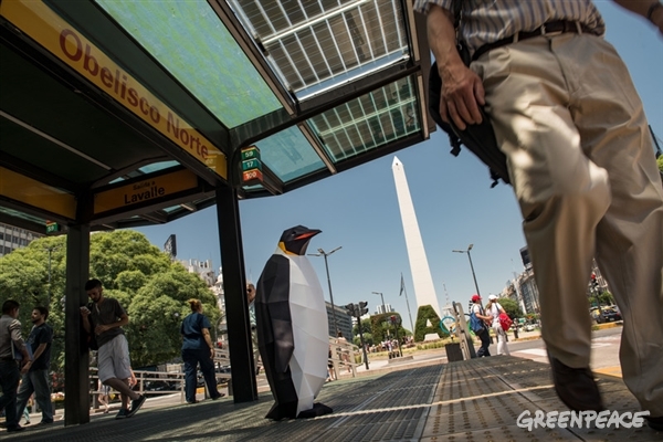
[[[443,349],[441,349],[441,352]],[[649,427],[627,429],[550,429],[517,425],[528,411],[565,411],[545,364],[511,356],[441,364],[440,360],[373,361],[371,371],[328,382],[318,400],[333,414],[311,420],[273,422],[264,419],[273,400],[235,404],[231,399],[197,404],[141,409],[117,421],[101,415],[91,423],[48,429],[30,428],[11,441],[660,441]],[[439,358],[440,359],[440,358]],[[431,364],[421,366],[421,364]],[[381,366],[381,367],[379,367]],[[391,368],[389,366],[392,366]],[[598,376],[609,410],[634,412],[638,403],[619,378]],[[151,399],[148,399],[148,402]],[[6,434],[0,438],[4,439]]]

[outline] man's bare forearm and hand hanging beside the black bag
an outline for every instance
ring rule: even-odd
[[[455,30],[450,11],[431,4],[427,20],[428,40],[442,78],[440,115],[464,130],[467,124],[482,122],[480,105],[484,105],[481,78],[472,72],[455,46]]]

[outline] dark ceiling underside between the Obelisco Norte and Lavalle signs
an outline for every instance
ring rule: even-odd
[[[133,128],[109,117],[82,94],[65,86],[4,45],[0,46],[0,63],[3,66],[12,66],[0,70],[2,112],[71,148],[67,150],[55,143],[33,144],[33,148],[41,147],[43,151],[33,151],[30,156],[55,156],[50,168],[60,167],[61,173],[66,173],[64,178],[72,182],[86,182],[94,172],[98,172],[94,178],[99,179],[108,171],[126,169],[143,158],[162,156],[158,147]],[[0,135],[3,140],[2,149],[6,149],[4,140],[9,144],[14,137],[17,141],[25,143],[28,138],[34,141],[34,137],[25,135],[25,129],[17,130],[18,127],[8,126],[8,133],[3,130]],[[88,160],[88,166],[91,166],[86,172],[80,172],[80,166],[73,169],[69,165],[80,161],[72,159],[76,151],[97,164]],[[105,171],[102,170],[104,168]]]

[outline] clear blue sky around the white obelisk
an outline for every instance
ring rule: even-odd
[[[663,138],[663,39],[639,17],[609,1],[597,1],[608,25],[607,40],[624,59],[659,139]],[[403,164],[436,296],[466,305],[476,291],[466,254],[452,253],[474,244],[472,261],[484,298],[499,293],[514,272],[522,272],[525,246],[522,218],[511,187],[491,189],[487,169],[464,150],[449,154],[449,141],[435,131],[424,143],[397,152]],[[412,319],[417,301],[410,277],[391,162],[387,156],[280,197],[240,202],[246,276],[257,281],[283,230],[303,224],[320,229],[309,245],[332,251],[328,257],[334,303],[368,301],[370,312],[385,302],[410,328],[406,297],[399,297],[402,272]],[[221,264],[215,208],[181,220],[138,229],[162,248],[177,235],[178,259]],[[323,257],[309,256],[329,301]],[[446,291],[444,290],[446,287]]]

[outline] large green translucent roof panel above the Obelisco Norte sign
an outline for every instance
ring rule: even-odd
[[[281,108],[204,0],[96,0],[228,127]]]

